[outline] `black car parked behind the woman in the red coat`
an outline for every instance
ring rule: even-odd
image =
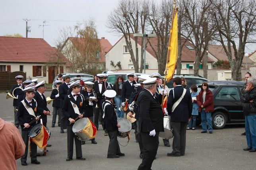
[[[242,81],[215,81],[207,82],[209,90],[213,92],[214,111],[212,125],[214,129],[222,129],[226,123],[244,122],[244,113],[241,102],[241,89],[245,82]],[[198,92],[201,90],[198,85]],[[200,115],[200,114],[199,114]],[[198,117],[197,124],[200,124]]]

